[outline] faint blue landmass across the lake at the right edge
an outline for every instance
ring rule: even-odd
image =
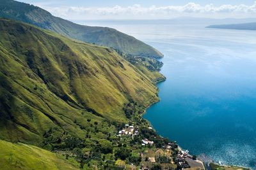
[[[244,24],[209,25],[208,28],[256,30],[256,22]]]

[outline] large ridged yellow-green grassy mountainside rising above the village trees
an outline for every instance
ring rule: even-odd
[[[0,20],[0,136],[41,145],[51,128],[83,137],[87,118],[124,122],[158,100],[150,78],[109,48]],[[103,117],[103,118],[102,118]]]

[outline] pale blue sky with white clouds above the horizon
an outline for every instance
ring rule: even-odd
[[[18,0],[69,20],[255,18],[255,0]]]

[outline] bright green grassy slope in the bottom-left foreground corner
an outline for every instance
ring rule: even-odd
[[[22,143],[0,140],[0,169],[79,169],[61,155]]]

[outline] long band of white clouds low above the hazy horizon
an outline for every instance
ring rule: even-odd
[[[61,6],[51,7],[40,5],[53,15],[68,19],[150,19],[150,18],[173,18],[180,16],[190,17],[255,17],[256,1],[251,6],[239,4],[214,6],[207,4],[202,6],[196,3],[188,3],[184,6],[150,6],[143,7],[140,4],[132,6],[112,7],[83,7],[83,6]]]

